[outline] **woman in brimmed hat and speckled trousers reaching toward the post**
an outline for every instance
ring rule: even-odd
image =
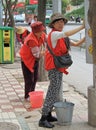
[[[47,44],[54,52],[55,55],[63,55],[68,52],[68,49],[65,45],[66,37],[69,37],[78,31],[84,29],[84,25],[80,27],[70,30],[68,32],[64,32],[63,28],[64,25],[67,23],[67,19],[60,13],[55,13],[51,16],[51,22],[49,27],[52,29],[51,32],[48,34]],[[77,44],[80,45],[84,42],[84,39],[80,40]],[[70,44],[76,45],[75,43],[71,42]],[[39,126],[45,128],[53,128],[54,125],[51,124],[53,121],[57,121],[57,118],[52,116],[52,110],[55,102],[60,101],[60,90],[62,86],[62,77],[63,73],[68,74],[68,68],[59,68],[57,69],[54,65],[53,56],[46,49],[45,52],[45,69],[48,71],[49,77],[49,87],[45,97],[45,101],[42,107],[42,115],[39,120]]]

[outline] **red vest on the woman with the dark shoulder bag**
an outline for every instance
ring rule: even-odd
[[[63,55],[65,53],[67,53],[67,48],[66,48],[66,45],[64,44],[64,38],[59,39],[57,41],[56,47],[52,48],[51,33],[48,36],[48,45],[52,49],[52,51],[54,52],[54,54],[60,56],[60,55]],[[51,69],[54,69],[54,68],[56,68],[56,67],[54,65],[53,56],[50,54],[50,52],[47,49],[46,53],[45,53],[45,69],[46,70],[51,70]],[[60,68],[58,70],[60,72],[68,74],[68,72],[66,71],[66,68]]]

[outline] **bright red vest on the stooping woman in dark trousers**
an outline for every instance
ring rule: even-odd
[[[36,36],[33,33],[30,33],[28,37],[25,39],[24,45],[20,49],[21,59],[31,72],[34,72],[33,68],[36,58],[33,56],[30,47],[41,46],[44,43],[44,37],[45,34],[43,33],[38,41]]]

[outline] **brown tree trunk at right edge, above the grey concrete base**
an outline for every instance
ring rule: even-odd
[[[96,0],[89,0],[88,22],[92,29],[93,45],[93,83],[96,88]]]

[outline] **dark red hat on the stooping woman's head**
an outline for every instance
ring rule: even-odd
[[[40,21],[37,21],[33,24],[31,24],[32,32],[38,33],[45,30],[45,27],[43,26],[43,23]]]

